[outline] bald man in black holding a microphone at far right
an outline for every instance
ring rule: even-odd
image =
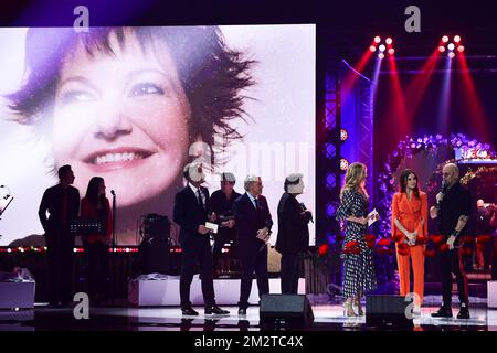
[[[443,303],[433,318],[452,318],[452,274],[456,276],[461,310],[457,319],[469,319],[467,279],[464,272],[459,243],[466,233],[466,224],[472,213],[469,191],[459,183],[459,169],[454,163],[442,169],[443,189],[436,195],[436,207],[430,208],[430,216],[437,218],[438,231],[446,238],[448,250],[440,255]]]

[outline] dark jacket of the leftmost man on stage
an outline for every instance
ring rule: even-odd
[[[68,224],[73,218],[77,217],[80,212],[80,191],[76,188],[68,185],[66,222],[63,222],[63,194],[64,189],[61,184],[46,189],[43,194],[38,215],[43,229],[45,229],[45,234],[47,235],[53,234],[56,231],[68,231]],[[46,217],[46,211],[50,213],[49,217]],[[62,229],[63,226],[65,226],[66,229]]]

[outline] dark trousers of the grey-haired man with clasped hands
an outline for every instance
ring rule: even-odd
[[[258,246],[258,245],[257,245]],[[267,246],[246,249],[246,253],[240,256],[240,267],[242,270],[242,281],[240,289],[241,309],[248,308],[248,297],[252,290],[252,279],[255,271],[257,278],[258,298],[269,292],[269,277],[267,275]],[[240,248],[240,252],[243,252]]]

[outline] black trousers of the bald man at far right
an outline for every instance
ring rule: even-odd
[[[452,303],[452,274],[456,276],[457,292],[459,301],[468,304],[467,278],[464,272],[462,254],[459,249],[453,249],[440,255],[441,277],[442,277],[442,298],[444,306]]]

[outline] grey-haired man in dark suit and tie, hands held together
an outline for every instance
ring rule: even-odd
[[[235,200],[234,214],[239,243],[239,258],[242,269],[239,314],[246,314],[252,289],[252,276],[257,277],[258,297],[269,292],[267,276],[267,242],[273,218],[266,199],[261,195],[261,176],[245,178],[245,193]]]

